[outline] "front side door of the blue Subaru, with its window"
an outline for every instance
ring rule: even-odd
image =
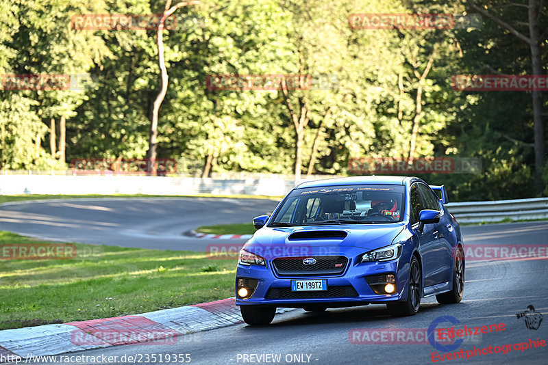
[[[411,185],[410,192],[410,224],[419,240],[419,254],[423,262],[423,284],[425,287],[436,284],[436,250],[439,249],[438,237],[434,236],[434,224],[425,224],[423,232],[419,230],[419,213],[425,209],[419,184]]]

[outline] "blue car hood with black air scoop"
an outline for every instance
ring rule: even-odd
[[[285,256],[299,256],[297,247],[310,248],[313,252],[318,252],[317,247],[333,247],[335,249],[338,247],[359,247],[371,250],[390,245],[405,226],[403,222],[397,224],[349,224],[287,228],[264,226],[253,234],[253,237],[247,241],[244,248],[255,254],[270,250],[288,253]]]

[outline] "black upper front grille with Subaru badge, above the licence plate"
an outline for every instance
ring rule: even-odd
[[[347,267],[345,256],[316,256],[314,265],[304,265],[305,258],[283,257],[273,260],[274,268],[279,275],[336,275],[343,273]]]

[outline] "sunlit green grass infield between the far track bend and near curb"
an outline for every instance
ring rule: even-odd
[[[0,231],[0,245],[45,243]],[[0,329],[84,321],[234,296],[235,259],[75,243],[73,260],[0,260]]]

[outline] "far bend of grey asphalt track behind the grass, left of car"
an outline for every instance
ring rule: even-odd
[[[0,205],[0,230],[53,241],[203,251],[211,240],[184,233],[199,226],[251,223],[277,203],[225,198],[29,200]]]

